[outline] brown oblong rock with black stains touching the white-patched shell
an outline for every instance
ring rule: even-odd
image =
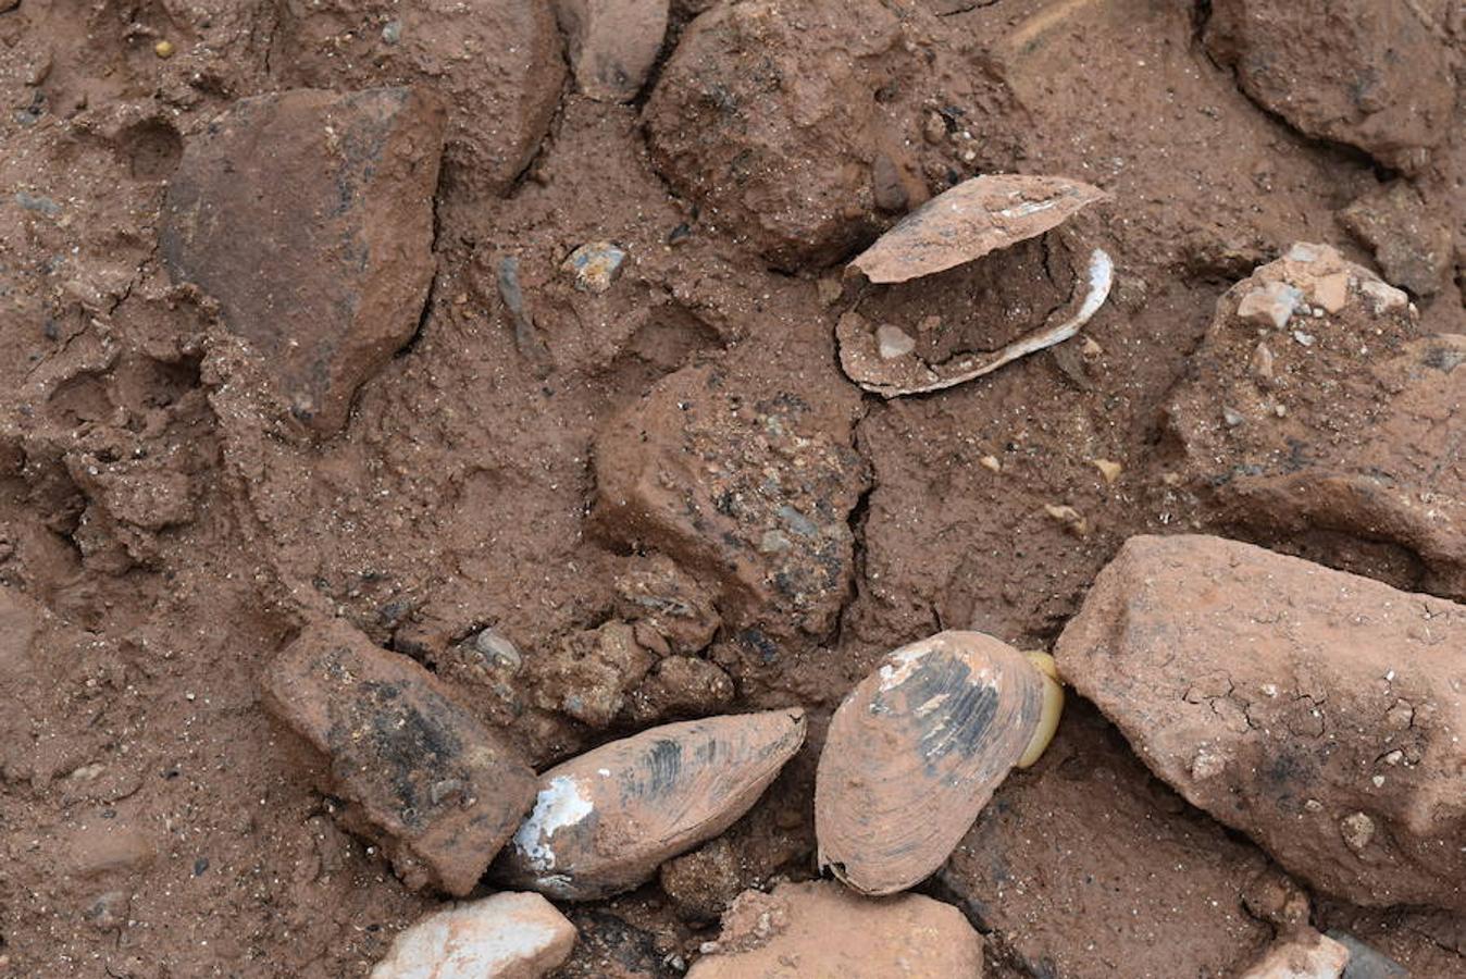
[[[309,626],[280,654],[264,702],[323,756],[323,791],[409,887],[468,894],[534,805],[534,769],[497,733],[343,621]]]

